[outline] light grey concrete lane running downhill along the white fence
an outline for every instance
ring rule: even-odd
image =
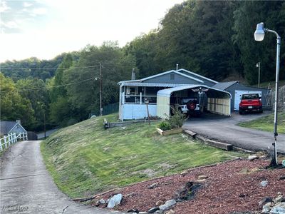
[[[19,142],[1,156],[0,213],[119,213],[75,203],[61,193],[43,164],[40,143]]]

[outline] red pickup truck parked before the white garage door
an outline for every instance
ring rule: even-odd
[[[262,102],[258,93],[247,93],[242,95],[242,100],[239,103],[239,114],[245,112],[257,111],[262,113]]]

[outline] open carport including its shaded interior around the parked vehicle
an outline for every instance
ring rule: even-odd
[[[185,85],[157,92],[157,116],[167,118],[171,107],[195,102],[200,110],[224,116],[231,115],[231,94],[204,85]],[[185,106],[185,105],[184,105]]]

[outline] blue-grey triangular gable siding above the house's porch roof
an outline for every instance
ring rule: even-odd
[[[170,79],[170,74],[174,75],[174,79]],[[177,73],[166,73],[165,75],[150,78],[143,82],[144,83],[173,83],[173,84],[202,84],[202,85],[204,84],[204,83],[200,83],[198,81],[192,80],[191,78],[181,76]]]

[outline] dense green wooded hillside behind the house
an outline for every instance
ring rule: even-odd
[[[32,57],[0,64],[1,120],[21,119],[31,131],[69,126],[99,112],[99,64],[103,106],[118,102],[118,81],[180,68],[216,81],[257,84],[275,78],[276,36],[254,41],[261,21],[281,36],[280,78],[285,78],[284,1],[184,1],[173,6],[157,29],[123,47],[116,41],[87,45],[52,60]]]

